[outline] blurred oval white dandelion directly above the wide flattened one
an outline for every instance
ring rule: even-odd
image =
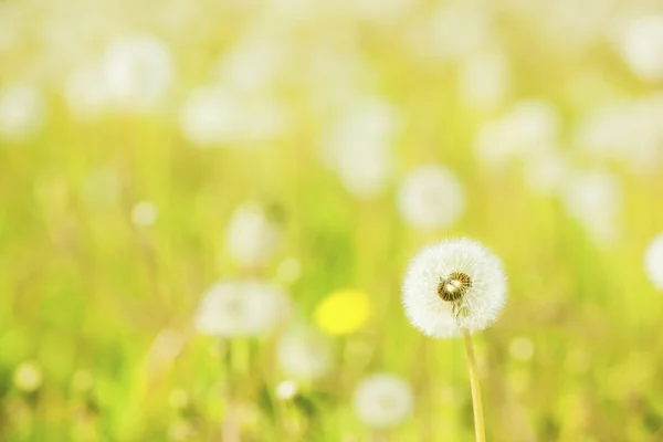
[[[225,231],[225,249],[241,265],[256,266],[270,261],[278,250],[281,229],[256,202],[241,204]]]

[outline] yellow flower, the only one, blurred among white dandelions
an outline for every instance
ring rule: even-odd
[[[346,288],[323,299],[314,313],[315,323],[329,335],[348,335],[370,316],[370,301],[365,292]]]

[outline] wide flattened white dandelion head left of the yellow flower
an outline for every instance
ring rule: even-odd
[[[287,295],[278,285],[259,280],[223,281],[204,293],[196,328],[225,338],[257,336],[275,329],[288,313]]]

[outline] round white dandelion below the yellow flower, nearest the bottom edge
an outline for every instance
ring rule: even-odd
[[[364,379],[355,390],[355,411],[366,425],[394,427],[407,419],[413,408],[412,390],[403,379],[377,373]]]

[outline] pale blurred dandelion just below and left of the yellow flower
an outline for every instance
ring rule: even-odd
[[[278,341],[276,356],[283,371],[296,379],[317,379],[332,366],[329,341],[308,327],[288,330]]]

